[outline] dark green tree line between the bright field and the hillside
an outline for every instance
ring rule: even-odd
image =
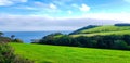
[[[102,49],[130,49],[130,35],[107,35],[107,36],[79,36],[72,37],[69,35],[51,34],[37,43],[40,45],[56,45],[56,46],[73,46],[87,48],[102,48]]]

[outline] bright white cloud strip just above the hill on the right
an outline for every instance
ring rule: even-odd
[[[83,14],[82,16],[89,18],[98,18],[98,20],[115,20],[122,21],[125,23],[130,23],[130,13],[92,13],[92,14]]]

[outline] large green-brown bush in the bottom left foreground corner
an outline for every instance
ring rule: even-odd
[[[14,54],[13,49],[8,43],[0,43],[0,63],[34,63]]]

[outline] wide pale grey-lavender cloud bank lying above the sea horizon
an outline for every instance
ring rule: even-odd
[[[95,16],[95,18],[94,18]],[[109,16],[109,15],[108,15]],[[102,17],[102,16],[101,16]],[[51,17],[43,15],[0,15],[0,30],[75,30],[87,25],[115,24],[121,21],[80,17]],[[55,29],[56,28],[56,29]]]

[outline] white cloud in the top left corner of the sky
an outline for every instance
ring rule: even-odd
[[[0,0],[0,5],[12,5],[20,2],[27,2],[27,0]]]

